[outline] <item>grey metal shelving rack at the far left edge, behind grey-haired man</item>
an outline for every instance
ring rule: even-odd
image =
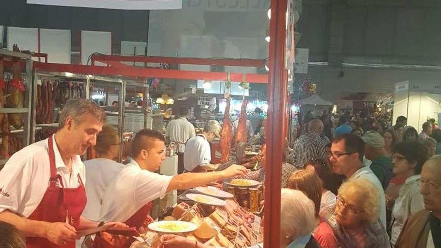
[[[25,97],[24,97],[24,108],[1,108],[0,113],[22,113],[24,114],[23,120],[23,130],[11,130],[11,133],[23,133],[23,146],[31,144],[31,130],[33,129],[32,122],[32,89],[34,87],[32,80],[32,59],[30,54],[19,53],[14,51],[9,51],[6,49],[0,49],[0,57],[3,58],[20,58],[25,61],[25,72],[24,72],[24,82],[25,82]],[[22,72],[23,74],[23,72]],[[8,159],[0,159],[0,166],[3,166]]]

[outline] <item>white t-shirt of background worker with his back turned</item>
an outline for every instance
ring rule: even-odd
[[[184,152],[185,142],[196,136],[196,131],[193,124],[186,118],[181,117],[168,123],[165,136],[168,136],[170,141],[177,142],[178,152]]]

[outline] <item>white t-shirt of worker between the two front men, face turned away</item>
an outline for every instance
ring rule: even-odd
[[[87,160],[84,161],[84,165],[86,166],[87,178],[87,204],[82,216],[99,221],[104,192],[119,172],[127,166],[106,158]]]

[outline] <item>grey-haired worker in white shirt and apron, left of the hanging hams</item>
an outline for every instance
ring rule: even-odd
[[[214,168],[211,162],[212,142],[216,137],[220,137],[220,124],[217,121],[208,121],[201,134],[188,140],[185,145],[184,166],[188,172],[205,172],[207,168]]]

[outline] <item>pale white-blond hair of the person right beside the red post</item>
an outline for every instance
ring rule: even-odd
[[[280,231],[286,236],[309,234],[315,228],[314,203],[302,191],[283,188],[280,217]]]

